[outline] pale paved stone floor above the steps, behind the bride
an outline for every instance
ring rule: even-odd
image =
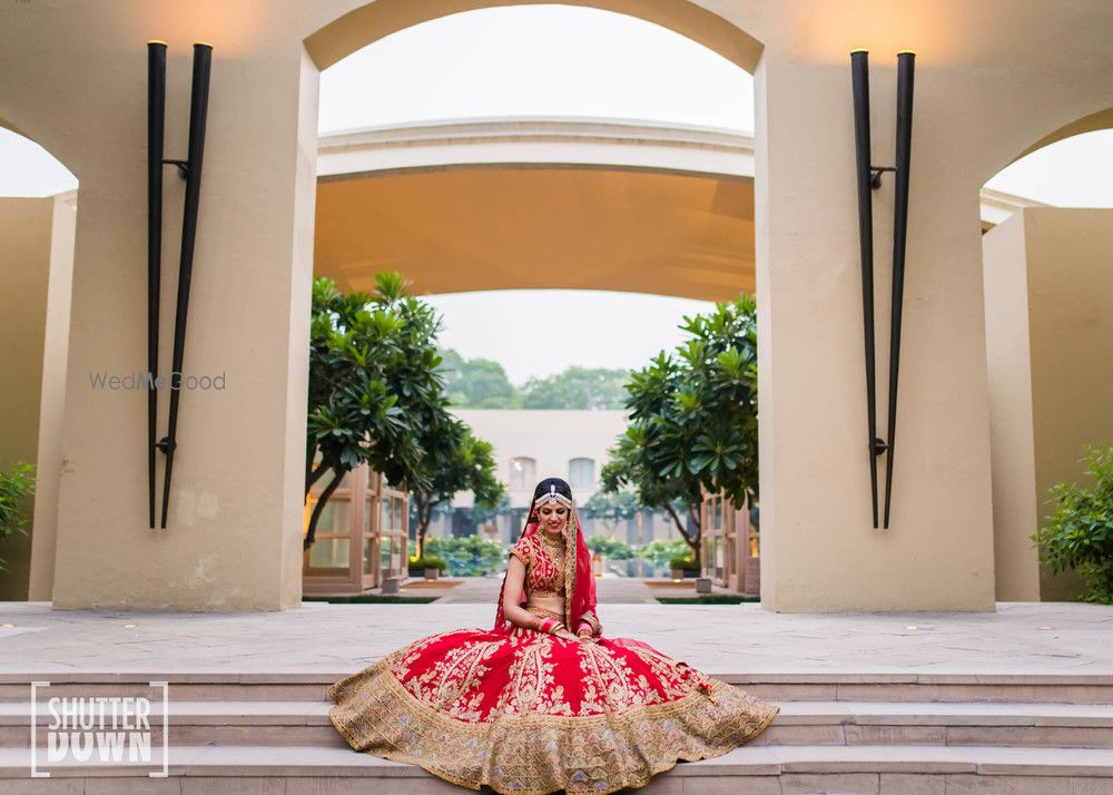
[[[490,628],[495,597],[489,595],[498,585],[469,583],[473,596],[483,596],[480,601],[303,602],[282,612],[53,610],[49,602],[0,602],[0,675],[346,674],[423,635]],[[995,612],[981,614],[776,614],[755,602],[637,603],[642,596],[629,582],[615,583],[611,600],[608,585],[600,588],[599,609],[605,635],[644,640],[712,675],[1113,676],[1113,607],[999,602]],[[634,603],[621,603],[623,588]]]

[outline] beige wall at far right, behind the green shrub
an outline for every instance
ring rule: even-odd
[[[985,236],[999,599],[1075,597],[1028,537],[1047,490],[1084,480],[1084,446],[1113,444],[1113,210],[1028,208]]]

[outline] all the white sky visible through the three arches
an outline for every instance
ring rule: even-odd
[[[400,31],[327,69],[319,129],[482,116],[637,118],[751,131],[752,79],[720,56],[642,20],[564,6],[495,8]],[[1030,155],[987,187],[1064,207],[1113,207],[1113,130]],[[52,196],[77,179],[37,144],[0,129],[0,196]],[[561,338],[529,332],[531,303],[582,315]],[[639,366],[708,304],[619,293],[471,293],[433,298],[443,342],[501,361],[515,383],[585,366]],[[508,333],[514,330],[514,333]],[[570,336],[572,335],[572,336]],[[602,341],[602,344],[601,344]],[[548,356],[553,352],[553,357]]]

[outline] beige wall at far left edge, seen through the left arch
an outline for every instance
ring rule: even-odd
[[[24,508],[29,534],[0,542],[8,565],[0,599],[28,598],[30,539],[52,547],[76,220],[76,193],[0,198],[0,468],[36,465],[36,494]]]

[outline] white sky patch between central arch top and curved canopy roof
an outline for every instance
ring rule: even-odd
[[[475,116],[602,116],[754,130],[754,80],[632,17],[492,8],[401,30],[327,69],[322,131]]]

